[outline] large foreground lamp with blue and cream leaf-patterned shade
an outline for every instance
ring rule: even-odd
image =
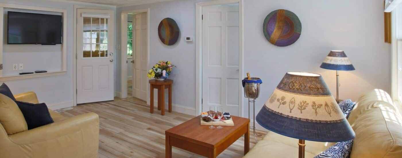
[[[343,142],[355,138],[322,76],[287,72],[256,117],[275,133],[299,139],[299,158],[305,140]]]

